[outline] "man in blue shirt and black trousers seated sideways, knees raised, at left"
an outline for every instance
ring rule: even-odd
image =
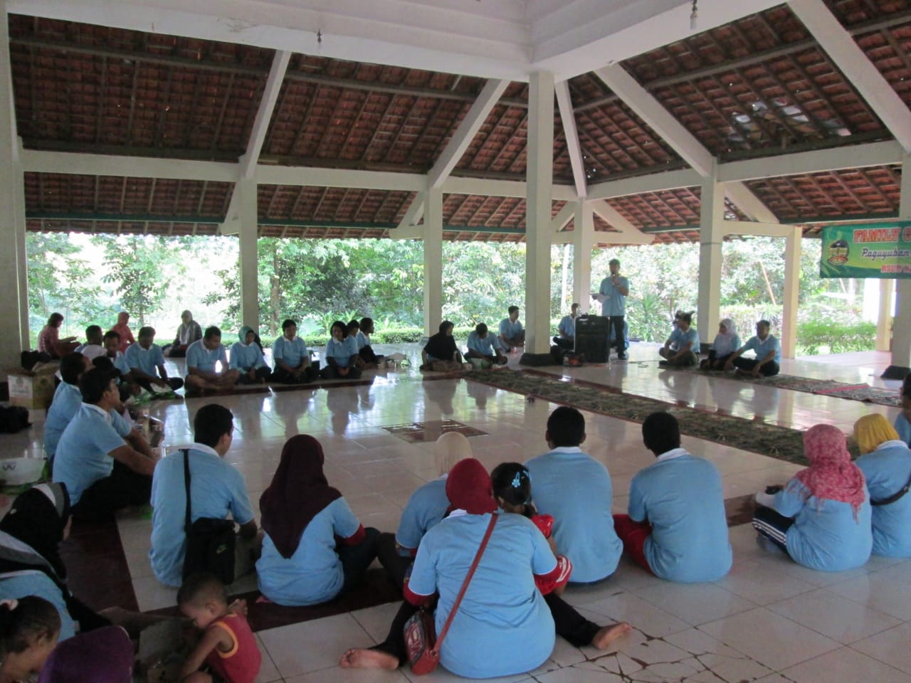
[[[106,521],[122,507],[148,503],[158,456],[112,413],[120,400],[112,373],[84,372],[79,390],[83,403],[57,443],[54,481],[67,484],[77,521]]]

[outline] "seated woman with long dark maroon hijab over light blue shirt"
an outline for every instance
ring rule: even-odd
[[[380,532],[364,529],[342,494],[322,474],[324,457],[312,436],[292,436],[260,498],[260,591],[279,605],[317,605],[363,580]]]

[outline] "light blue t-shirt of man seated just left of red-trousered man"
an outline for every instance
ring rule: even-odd
[[[525,466],[537,511],[554,517],[557,552],[572,562],[569,580],[591,583],[613,574],[623,544],[614,531],[608,468],[578,446],[555,448]]]

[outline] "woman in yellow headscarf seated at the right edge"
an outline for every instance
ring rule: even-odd
[[[873,506],[873,554],[911,557],[911,449],[879,413],[858,420],[854,433]]]

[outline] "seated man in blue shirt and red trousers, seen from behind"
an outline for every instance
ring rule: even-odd
[[[670,413],[651,413],[642,441],[658,460],[632,478],[630,514],[614,515],[623,550],[668,581],[721,578],[732,563],[722,475],[681,448],[680,424]]]

